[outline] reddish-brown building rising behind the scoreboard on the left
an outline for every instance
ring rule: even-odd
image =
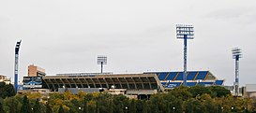
[[[45,75],[45,69],[34,64],[28,65],[28,77],[44,77]]]

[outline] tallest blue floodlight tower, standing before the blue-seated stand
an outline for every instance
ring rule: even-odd
[[[176,24],[177,38],[184,39],[184,72],[183,72],[183,86],[187,86],[187,40],[194,38],[194,27],[188,24]]]

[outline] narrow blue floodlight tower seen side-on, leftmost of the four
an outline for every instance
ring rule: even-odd
[[[14,64],[14,90],[18,91],[18,64],[19,64],[19,50],[22,40],[16,43],[15,47],[15,64]]]

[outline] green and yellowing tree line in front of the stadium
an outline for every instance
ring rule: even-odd
[[[255,100],[233,97],[220,86],[182,86],[148,100],[107,92],[27,92],[0,99],[0,113],[227,113],[256,112],[255,106]]]

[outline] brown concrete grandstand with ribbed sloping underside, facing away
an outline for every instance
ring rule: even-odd
[[[43,89],[58,91],[61,88],[126,89],[129,94],[164,92],[155,74],[97,74],[75,73],[42,77]]]

